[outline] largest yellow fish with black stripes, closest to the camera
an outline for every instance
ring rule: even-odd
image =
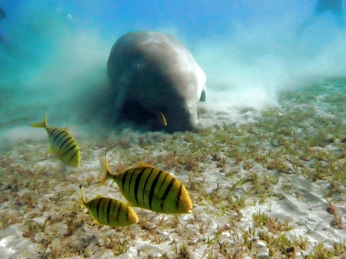
[[[127,205],[157,213],[190,213],[192,202],[185,186],[169,173],[145,163],[138,163],[123,172],[112,174],[105,158],[106,175],[98,188],[108,179],[115,181]]]

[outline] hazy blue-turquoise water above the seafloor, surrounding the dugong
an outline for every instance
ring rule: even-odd
[[[31,116],[40,118],[39,110],[54,112],[64,101],[83,99],[85,105],[88,91],[107,83],[112,44],[131,30],[164,31],[180,39],[207,75],[209,102],[229,103],[219,92],[232,90],[229,95],[244,100],[238,106],[252,106],[248,89],[256,89],[263,93],[263,108],[282,90],[346,74],[346,33],[330,12],[295,34],[315,3],[0,0],[7,13],[0,28],[13,46],[0,46],[0,89],[10,89],[12,95],[6,94],[13,98],[2,109],[33,107]],[[7,121],[6,112],[2,120]]]

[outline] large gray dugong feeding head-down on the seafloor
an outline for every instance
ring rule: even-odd
[[[153,116],[162,112],[168,131],[196,127],[197,102],[207,96],[206,75],[173,36],[151,31],[122,35],[111,49],[107,74],[115,91],[115,119],[132,103],[127,109]]]

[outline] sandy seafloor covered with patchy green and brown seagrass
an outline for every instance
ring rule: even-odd
[[[5,131],[0,258],[346,258],[345,84],[326,80],[281,93],[277,107],[244,111],[245,123],[200,108],[201,123],[218,124],[195,132],[124,129],[98,138],[71,129],[78,168],[47,152],[43,129],[15,129],[24,132],[17,139]],[[21,119],[27,107],[1,109],[13,113],[4,126],[38,122]],[[92,224],[79,209],[80,184],[87,200],[125,201],[110,182],[95,192],[106,151],[113,172],[143,161],[176,176],[192,213],[134,208],[138,224]]]

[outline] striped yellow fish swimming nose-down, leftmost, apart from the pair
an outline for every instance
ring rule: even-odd
[[[78,167],[81,161],[81,152],[77,142],[69,133],[69,129],[47,126],[47,112],[42,122],[29,125],[35,128],[44,128],[47,130],[48,139],[51,146],[48,152],[52,152],[59,160],[68,166]]]

